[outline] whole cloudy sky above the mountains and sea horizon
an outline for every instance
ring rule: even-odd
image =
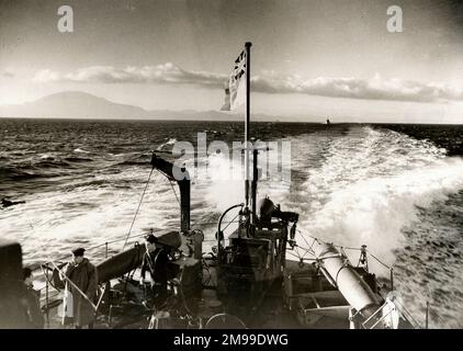
[[[57,30],[60,5],[74,33]],[[403,9],[402,33],[387,8]],[[463,123],[462,1],[0,0],[0,103],[80,90],[149,110],[218,110],[252,42],[252,110]]]

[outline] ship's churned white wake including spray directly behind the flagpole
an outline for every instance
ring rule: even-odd
[[[366,245],[389,264],[407,246],[404,230],[420,212],[463,189],[462,158],[447,158],[432,143],[396,132],[352,127],[347,135],[315,133],[291,143],[292,182],[263,180],[259,196],[298,212],[302,233],[348,247]],[[214,174],[228,165],[221,157],[210,163]],[[215,177],[202,190],[215,211],[242,202],[239,180]]]

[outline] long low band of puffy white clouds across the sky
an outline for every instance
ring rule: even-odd
[[[49,69],[38,71],[37,82],[99,82],[99,83],[157,83],[196,84],[205,88],[224,88],[228,75],[184,70],[172,63],[158,66],[115,68],[91,66],[68,73]],[[327,78],[304,79],[300,76],[279,77],[262,72],[252,77],[252,91],[261,93],[301,93],[331,98],[392,100],[415,102],[463,101],[463,90],[442,83],[424,83],[400,79]]]

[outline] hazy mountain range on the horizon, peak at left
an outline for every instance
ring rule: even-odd
[[[80,91],[65,91],[33,102],[18,105],[0,105],[0,117],[59,117],[59,118],[151,118],[191,121],[241,121],[241,115],[219,111],[169,111],[120,104]],[[275,120],[266,115],[252,115],[255,121]]]

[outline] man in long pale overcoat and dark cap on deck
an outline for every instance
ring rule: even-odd
[[[84,251],[83,248],[72,250],[72,261],[65,267],[64,272],[67,279],[72,282],[72,284],[67,282],[67,287],[72,294],[72,313],[76,328],[80,329],[83,326],[89,326],[89,329],[93,329],[95,312],[90,302],[94,303],[97,296],[98,273],[97,268],[83,257]]]

